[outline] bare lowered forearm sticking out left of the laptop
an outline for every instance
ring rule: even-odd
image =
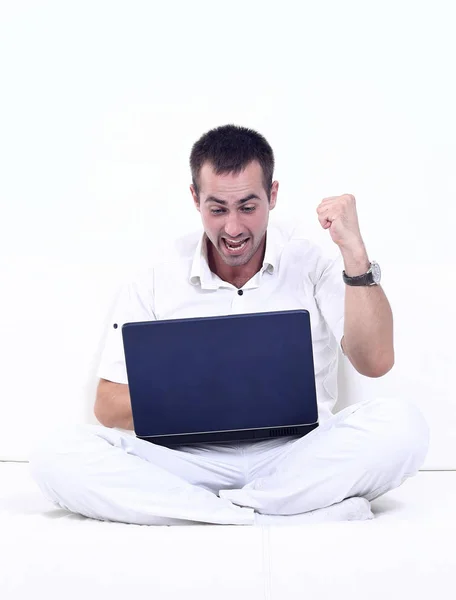
[[[100,379],[94,413],[105,427],[134,429],[128,385]]]

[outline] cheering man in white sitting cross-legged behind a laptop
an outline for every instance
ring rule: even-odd
[[[332,414],[339,347],[367,377],[381,377],[394,363],[391,309],[369,261],[355,198],[331,196],[317,208],[340,249],[340,260],[332,261],[309,240],[268,228],[279,184],[263,136],[233,125],[213,129],[194,144],[190,166],[204,233],[121,288],[98,370],[95,415],[102,425],[43,443],[31,457],[32,475],[58,506],[102,520],[372,518],[370,501],[422,465],[428,428],[416,407],[401,400],[366,399]],[[311,316],[317,429],[303,437],[173,449],[121,431],[133,429],[122,323],[296,308]]]

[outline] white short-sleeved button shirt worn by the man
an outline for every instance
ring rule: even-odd
[[[262,268],[240,294],[209,269],[204,234],[181,238],[173,253],[121,285],[97,375],[128,383],[121,331],[127,322],[304,308],[310,313],[323,422],[337,401],[338,349],[344,331],[343,268],[340,253],[329,257],[296,230],[269,225]]]

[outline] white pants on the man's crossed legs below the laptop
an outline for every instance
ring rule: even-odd
[[[353,496],[373,500],[416,474],[428,444],[416,406],[379,398],[304,437],[256,442],[169,449],[81,425],[36,448],[30,469],[49,500],[94,519],[249,525],[255,511],[296,515]]]

